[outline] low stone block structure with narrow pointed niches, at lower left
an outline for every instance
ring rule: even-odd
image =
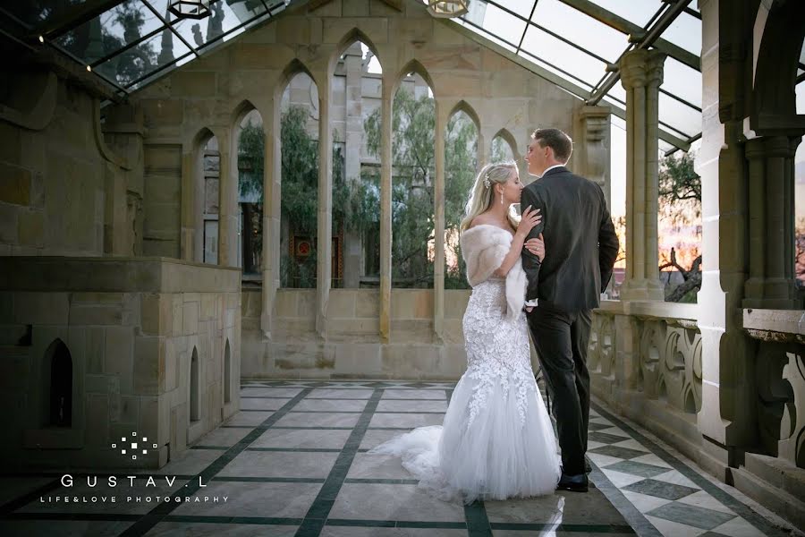
[[[0,273],[7,465],[158,468],[237,411],[239,270],[6,257]],[[136,459],[119,451],[132,432],[148,439]]]

